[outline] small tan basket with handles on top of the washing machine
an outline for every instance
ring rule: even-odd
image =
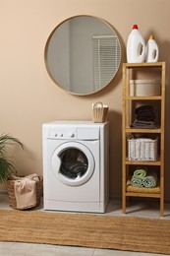
[[[101,102],[96,102],[92,106],[92,121],[94,123],[103,123],[106,121],[108,114],[108,105],[103,105]]]

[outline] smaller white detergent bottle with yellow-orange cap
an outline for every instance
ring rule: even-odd
[[[145,48],[145,62],[157,62],[159,56],[159,48],[153,35],[150,34]]]

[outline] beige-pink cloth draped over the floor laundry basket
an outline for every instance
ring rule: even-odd
[[[27,209],[36,205],[37,174],[31,174],[14,182],[17,209]]]

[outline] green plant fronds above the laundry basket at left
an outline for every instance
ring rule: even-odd
[[[15,173],[13,162],[6,157],[9,146],[19,144],[23,148],[23,144],[19,139],[8,134],[0,136],[0,181],[7,181],[11,173]]]

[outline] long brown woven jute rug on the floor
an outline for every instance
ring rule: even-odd
[[[170,221],[0,210],[0,241],[170,254]]]

